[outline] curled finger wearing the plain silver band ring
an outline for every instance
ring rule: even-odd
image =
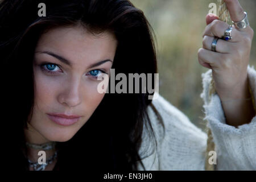
[[[209,51],[212,51],[212,42],[213,42],[214,37],[212,36],[204,36],[203,39],[203,48],[208,49]],[[222,39],[218,39],[217,41],[217,46],[216,46],[216,52],[220,53],[231,53],[233,49],[233,45],[235,43],[233,42],[228,42]]]

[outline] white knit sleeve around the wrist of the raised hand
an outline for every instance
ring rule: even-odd
[[[247,67],[249,84],[256,98],[256,71]],[[250,123],[238,126],[226,124],[224,110],[217,93],[209,94],[212,70],[202,74],[204,113],[212,131],[217,154],[217,170],[256,170],[256,117]]]

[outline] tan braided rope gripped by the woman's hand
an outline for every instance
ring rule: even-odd
[[[226,3],[224,0],[218,0],[219,7],[218,7],[218,18],[224,22],[228,22],[230,19],[228,8],[226,7]],[[214,87],[214,80],[212,78],[210,82],[210,88],[209,88],[209,96],[212,96],[212,94],[216,93],[215,87]],[[208,121],[207,121],[208,122]],[[208,122],[209,123],[209,122]],[[205,170],[206,171],[214,171],[216,169],[215,164],[209,164],[209,152],[215,151],[215,144],[213,142],[212,137],[212,131],[210,131],[209,127],[207,127],[207,150],[206,150],[206,158],[205,158]]]

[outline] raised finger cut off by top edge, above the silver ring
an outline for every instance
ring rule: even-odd
[[[238,0],[224,0],[226,6],[228,7],[230,18],[234,22],[239,22],[243,18],[245,18],[245,14],[243,13],[243,8],[238,2]]]

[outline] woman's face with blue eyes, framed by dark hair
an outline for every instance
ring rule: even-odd
[[[71,139],[104,97],[97,92],[101,82],[97,77],[104,72],[110,74],[116,48],[113,34],[94,36],[80,26],[55,28],[43,34],[36,46],[33,65],[35,106],[31,129],[50,141]],[[80,118],[64,126],[56,123],[52,114]]]

